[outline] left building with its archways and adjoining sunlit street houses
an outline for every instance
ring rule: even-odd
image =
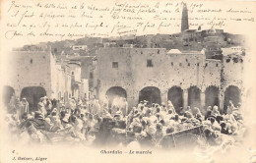
[[[79,61],[58,60],[48,46],[25,46],[8,55],[8,76],[4,80],[4,103],[11,97],[26,97],[36,108],[40,97],[57,100],[88,98],[89,84],[81,78]]]

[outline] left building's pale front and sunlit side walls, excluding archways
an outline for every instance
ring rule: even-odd
[[[57,99],[71,89],[71,79],[48,51],[13,51],[6,62],[10,67],[4,85],[13,87],[17,97],[25,87],[42,87],[47,96]]]

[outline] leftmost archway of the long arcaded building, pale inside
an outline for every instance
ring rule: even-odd
[[[124,98],[127,98],[127,93],[126,93],[126,90],[120,86],[113,86],[113,87],[110,87],[105,95],[107,96],[108,98],[108,104],[109,106],[112,105],[112,102],[113,102],[113,99],[116,98],[116,97],[124,97]]]

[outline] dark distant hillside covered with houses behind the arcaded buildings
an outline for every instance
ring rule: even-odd
[[[43,44],[43,43],[42,43]],[[45,43],[44,43],[45,44]],[[224,32],[223,29],[196,30],[187,29],[173,34],[147,34],[131,35],[122,37],[83,37],[75,40],[66,39],[63,41],[46,42],[51,47],[54,55],[79,54],[81,56],[96,56],[100,47],[139,47],[139,48],[165,48],[179,49],[181,51],[196,50],[203,48],[207,58],[220,58],[221,48],[231,46],[245,46],[245,36]],[[73,46],[85,46],[86,49],[74,50]],[[36,45],[35,45],[36,46]],[[31,47],[31,46],[27,46]]]

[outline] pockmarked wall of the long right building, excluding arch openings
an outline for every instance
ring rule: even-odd
[[[201,52],[167,53],[162,48],[101,48],[96,56],[96,80],[99,99],[105,98],[106,91],[112,86],[120,86],[127,91],[127,100],[133,106],[139,101],[140,90],[147,86],[160,89],[161,102],[167,101],[168,89],[172,86],[183,90],[183,106],[187,106],[188,89],[200,89],[201,105],[205,104],[205,90],[215,86],[223,88],[222,74],[227,84],[237,80],[232,72],[241,66],[226,65],[220,60],[206,59]],[[151,60],[151,67],[147,66]],[[113,68],[118,63],[118,68]],[[223,71],[223,69],[225,69]],[[228,73],[227,73],[228,72]],[[219,101],[224,96],[219,93]]]

